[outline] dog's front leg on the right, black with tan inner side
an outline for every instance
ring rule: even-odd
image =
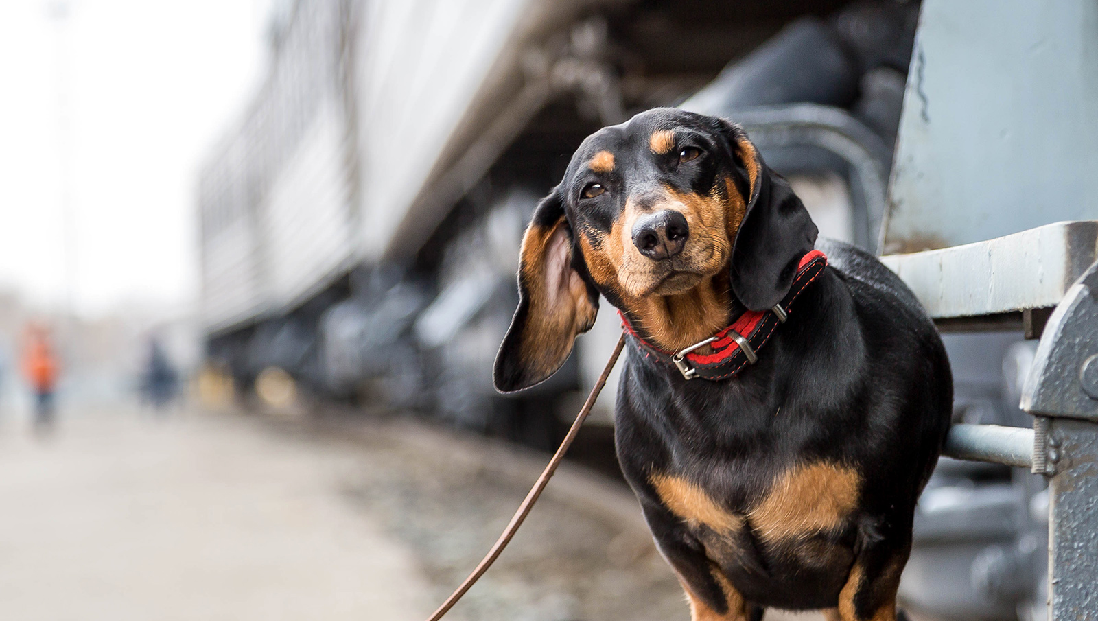
[[[839,607],[826,611],[828,621],[897,621],[896,591],[911,552],[911,542],[882,540],[863,549],[854,560]]]

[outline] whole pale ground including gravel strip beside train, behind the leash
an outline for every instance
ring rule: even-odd
[[[419,621],[547,459],[407,417],[60,414],[44,442],[0,419],[4,619]],[[625,485],[565,463],[448,619],[688,611]]]

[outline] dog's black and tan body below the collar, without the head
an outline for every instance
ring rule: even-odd
[[[875,259],[821,246],[832,267],[735,380],[687,382],[636,348],[623,372],[623,472],[663,554],[718,614],[736,608],[720,575],[758,606],[845,595],[856,619],[894,608],[941,450],[950,394],[933,387],[951,380],[933,326]]]

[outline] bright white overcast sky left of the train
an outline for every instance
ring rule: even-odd
[[[255,91],[270,0],[69,0],[67,138],[54,1],[0,0],[0,290],[65,303],[71,153],[77,310],[190,305],[195,170]]]

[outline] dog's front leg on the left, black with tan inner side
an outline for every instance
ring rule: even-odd
[[[660,553],[686,591],[692,621],[759,621],[762,618],[729,584],[683,520],[658,504],[646,503],[643,511]]]

